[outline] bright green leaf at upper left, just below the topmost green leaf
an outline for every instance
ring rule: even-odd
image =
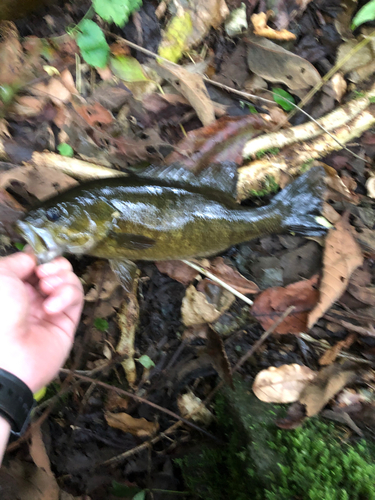
[[[83,59],[91,66],[104,68],[108,60],[109,46],[103,31],[90,19],[81,21],[77,28],[80,33],[76,36],[76,42]]]

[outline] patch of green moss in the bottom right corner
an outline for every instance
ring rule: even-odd
[[[250,423],[238,420],[238,408],[228,403],[221,395],[215,407],[217,434],[226,444],[200,446],[178,461],[194,498],[248,500],[251,492],[254,500],[375,499],[374,455],[366,442],[350,444],[344,430],[318,419],[293,431],[277,429],[272,405],[261,410],[264,419],[259,406]]]

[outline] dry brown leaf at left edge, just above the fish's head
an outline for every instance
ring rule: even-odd
[[[0,174],[0,187],[6,188],[14,182],[22,184],[28,193],[40,201],[78,185],[75,179],[62,172],[31,165],[16,167]]]

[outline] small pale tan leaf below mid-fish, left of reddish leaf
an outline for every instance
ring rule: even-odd
[[[211,285],[211,287],[213,286]],[[214,303],[209,302],[207,295],[199,292],[194,285],[190,285],[186,289],[181,307],[184,325],[191,326],[199,325],[200,323],[212,323],[229,309],[234,302],[235,296],[224,288],[217,286],[215,288],[218,290]]]

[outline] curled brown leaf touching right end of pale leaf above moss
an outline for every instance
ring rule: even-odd
[[[302,391],[299,402],[306,407],[306,415],[312,417],[356,377],[355,365],[329,365],[320,370],[316,378]]]

